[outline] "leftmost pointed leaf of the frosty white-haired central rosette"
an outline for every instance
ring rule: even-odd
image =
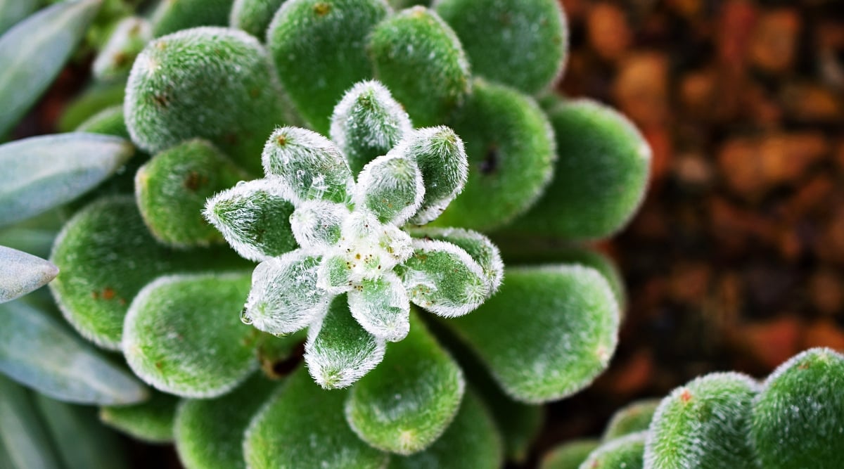
[[[278,181],[238,182],[209,198],[203,214],[238,254],[264,261],[296,247],[289,199],[289,191]]]

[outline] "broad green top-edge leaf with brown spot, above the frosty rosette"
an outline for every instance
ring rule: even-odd
[[[284,89],[309,127],[327,135],[334,105],[371,78],[366,38],[389,7],[384,0],[288,0],[267,30]]]

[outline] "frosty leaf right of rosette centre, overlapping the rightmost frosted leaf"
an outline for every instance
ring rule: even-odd
[[[414,304],[444,317],[466,315],[490,295],[484,269],[466,251],[436,240],[414,240],[414,255],[397,267]]]

